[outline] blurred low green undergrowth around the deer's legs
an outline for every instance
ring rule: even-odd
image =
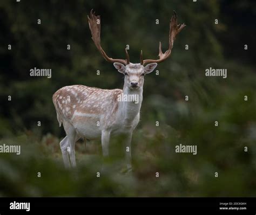
[[[198,128],[194,128],[198,129]],[[33,133],[5,138],[1,143],[21,144],[21,155],[0,157],[1,196],[86,196],[86,197],[199,197],[254,196],[255,167],[243,144],[236,147],[198,142],[198,155],[178,154],[175,145],[186,144],[170,126],[142,127],[132,141],[133,172],[125,171],[122,140],[110,145],[107,171],[99,141],[76,143],[77,168],[63,167],[60,139]],[[151,128],[152,130],[152,128]],[[193,129],[191,130],[193,133]],[[195,136],[194,138],[198,138]],[[203,137],[204,138],[204,137]],[[214,138],[214,137],[212,137]],[[219,138],[218,136],[216,138]],[[212,153],[211,153],[212,152]],[[247,158],[246,158],[247,157]],[[38,177],[40,172],[41,177]],[[100,177],[97,177],[100,172]],[[156,177],[156,172],[159,177]],[[218,172],[218,177],[214,177]]]

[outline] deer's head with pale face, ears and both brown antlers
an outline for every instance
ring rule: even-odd
[[[100,45],[100,16],[96,16],[95,12],[91,10],[90,17],[87,16],[89,27],[92,34],[92,40],[94,41],[96,47],[102,56],[109,62],[114,64],[114,67],[118,72],[125,75],[124,85],[130,89],[138,89],[143,87],[145,74],[151,73],[158,63],[163,62],[171,55],[173,41],[177,34],[186,26],[185,24],[177,24],[177,15],[173,11],[173,16],[170,21],[170,31],[169,31],[169,49],[163,53],[161,50],[161,42],[159,42],[159,59],[146,59],[143,60],[142,51],[140,52],[140,63],[132,64],[130,63],[130,58],[127,50],[125,49],[126,59],[113,59],[107,56],[102,46]]]

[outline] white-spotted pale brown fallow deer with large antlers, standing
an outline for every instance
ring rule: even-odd
[[[102,140],[103,156],[109,156],[110,136],[124,134],[127,168],[131,169],[131,138],[134,128],[139,122],[140,107],[143,99],[144,75],[151,73],[158,63],[170,57],[173,41],[176,35],[186,26],[177,24],[177,15],[170,20],[169,49],[163,53],[159,43],[159,59],[143,60],[140,52],[140,63],[130,63],[127,50],[126,59],[113,59],[107,56],[100,45],[100,16],[90,12],[87,16],[89,27],[99,52],[105,60],[113,63],[118,72],[125,75],[122,89],[100,89],[83,85],[72,85],[60,88],[52,96],[56,108],[59,126],[63,123],[66,132],[65,138],[60,142],[60,149],[65,167],[76,167],[75,143],[79,138]],[[138,101],[119,100],[121,95],[138,98]]]

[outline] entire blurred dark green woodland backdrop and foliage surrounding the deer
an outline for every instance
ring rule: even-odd
[[[125,170],[122,138],[112,138],[112,168],[100,178],[99,141],[86,149],[78,142],[78,167],[64,169],[65,134],[52,104],[67,85],[123,87],[122,74],[91,40],[91,9],[102,19],[104,50],[124,58],[129,44],[132,63],[141,49],[144,58],[157,58],[159,41],[167,49],[173,10],[187,25],[159,75],[145,77],[133,172]],[[0,154],[0,196],[255,196],[255,15],[249,0],[1,1],[0,143],[21,144],[22,154]],[[52,78],[30,77],[34,67],[51,68]],[[226,68],[227,78],[206,77],[210,67]],[[198,154],[176,153],[180,143],[197,145]]]

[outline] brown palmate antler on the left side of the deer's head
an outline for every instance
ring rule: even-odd
[[[103,57],[111,63],[121,63],[124,65],[130,64],[130,58],[129,58],[129,54],[128,54],[126,48],[125,48],[125,53],[126,53],[125,60],[110,58],[104,52],[102,46],[100,46],[100,16],[96,16],[95,12],[92,12],[92,11],[93,11],[93,9],[90,12],[90,17],[87,16],[87,18],[88,18],[89,27],[90,27],[91,34],[92,34],[92,40],[94,41],[99,52],[102,53]]]

